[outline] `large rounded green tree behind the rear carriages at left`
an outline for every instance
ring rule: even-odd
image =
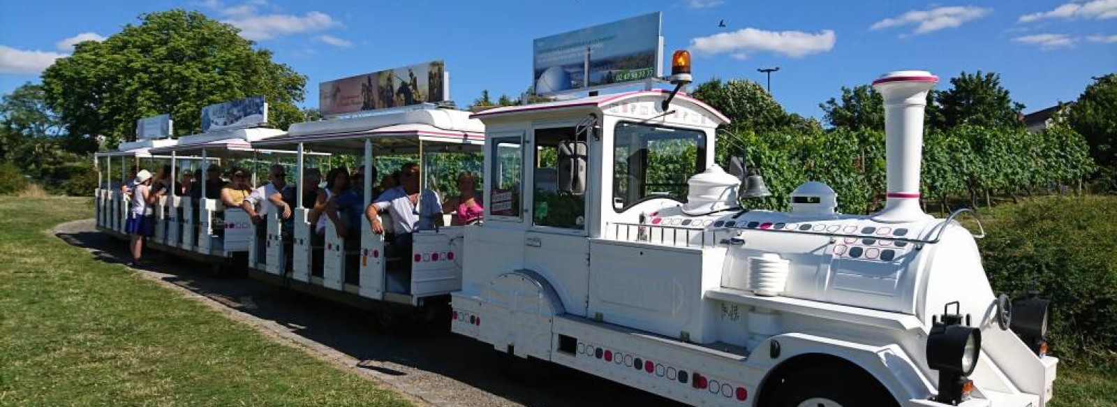
[[[48,106],[66,130],[93,149],[127,140],[137,119],[170,113],[175,134],[201,131],[201,108],[264,95],[273,124],[286,129],[303,120],[306,77],[254,49],[236,27],[197,11],[170,10],[140,16],[104,41],[78,44],[74,55],[42,73]]]

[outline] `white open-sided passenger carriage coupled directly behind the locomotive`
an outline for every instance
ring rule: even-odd
[[[428,105],[298,123],[290,126],[286,136],[252,145],[302,153],[296,177],[299,181],[296,197],[302,197],[305,189],[302,174],[307,168],[303,157],[311,152],[360,157],[355,164],[366,168],[393,157],[412,157],[427,174],[422,184],[428,188],[436,179],[431,172],[436,172],[433,164],[440,154],[471,153],[479,160],[484,131],[479,121],[469,119],[468,112]],[[325,176],[327,171],[322,172]],[[371,177],[364,179],[362,210],[374,198],[371,193],[376,181]],[[437,187],[431,189],[439,192]],[[394,311],[383,313],[385,319],[400,312],[432,318],[445,307],[448,294],[460,288],[466,227],[450,226],[448,214],[443,215],[446,226],[416,231],[413,257],[401,258],[391,240],[393,230],[388,214],[381,214],[384,235],[373,234],[362,212],[359,217],[346,217],[362,223],[359,236],[340,237],[333,221],[327,221],[324,236],[318,239],[308,220],[311,209],[303,206],[302,199],[296,200],[289,226],[277,211],[269,212],[266,252],[258,257],[260,262],[250,264],[252,276],[363,309]],[[353,225],[349,226],[353,229]],[[410,274],[407,268],[411,268]]]

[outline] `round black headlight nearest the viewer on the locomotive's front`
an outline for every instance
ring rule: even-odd
[[[970,375],[981,354],[981,331],[962,325],[936,324],[927,335],[927,365],[939,371]]]

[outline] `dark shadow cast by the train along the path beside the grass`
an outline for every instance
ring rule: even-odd
[[[94,258],[126,263],[126,243],[94,230],[92,221],[56,236],[90,250]],[[145,253],[142,267],[159,278],[256,318],[279,323],[296,334],[362,362],[359,368],[414,381],[421,391],[432,384],[421,370],[526,406],[681,406],[675,401],[550,363],[507,369],[507,361],[487,344],[449,332],[449,323],[386,332],[371,313],[285,291],[250,278],[214,276],[209,267],[159,252]],[[526,371],[526,373],[525,373]],[[502,373],[503,372],[503,373]],[[410,376],[410,378],[408,378]],[[555,384],[562,384],[556,386]],[[576,391],[572,391],[576,390]],[[470,403],[471,404],[471,403]]]

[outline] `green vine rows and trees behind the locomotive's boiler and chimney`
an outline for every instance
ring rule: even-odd
[[[1117,101],[1117,92],[1109,88],[1117,91],[1113,74],[1097,78],[1077,103],[1061,108],[1050,127],[1029,133],[1023,106],[1012,101],[997,74],[951,78],[948,88],[927,96],[920,186],[926,209],[948,211],[990,206],[995,197],[1015,200],[1021,195],[1081,191],[1087,182],[1111,189],[1117,161],[1104,149],[1115,132],[1088,130],[1087,138],[1077,130],[1083,122],[1097,127],[1102,126],[1098,122],[1117,122],[1117,111],[1095,107]],[[1104,92],[1109,98],[1092,96]],[[787,195],[808,180],[830,184],[842,212],[866,214],[882,206],[884,100],[870,85],[842,87],[840,96],[820,104],[824,124],[786,113],[751,81],[714,79],[698,85],[693,95],[733,120],[718,130],[718,162],[741,155],[764,176],[773,196],[753,202],[755,207],[785,208]],[[1083,113],[1085,106],[1095,111]]]

